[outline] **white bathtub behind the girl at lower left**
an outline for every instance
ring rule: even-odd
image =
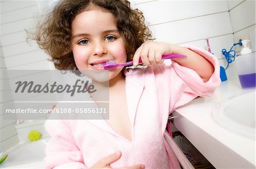
[[[38,141],[27,141],[16,145],[6,153],[8,157],[0,168],[43,168],[45,157],[44,149],[46,148],[49,137],[42,137]]]

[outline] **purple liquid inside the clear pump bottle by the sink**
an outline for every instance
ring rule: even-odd
[[[256,73],[238,75],[242,88],[255,88]]]

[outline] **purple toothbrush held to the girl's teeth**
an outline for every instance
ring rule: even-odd
[[[162,59],[166,60],[169,58],[186,58],[187,56],[182,55],[182,54],[167,54],[167,55],[162,55]],[[139,64],[142,64],[142,60],[139,59]],[[131,66],[133,65],[133,61],[122,63],[122,64],[116,64],[114,60],[109,60],[106,62],[102,63],[102,66],[104,66],[104,69],[109,70],[109,69],[115,69],[116,67],[119,66]]]

